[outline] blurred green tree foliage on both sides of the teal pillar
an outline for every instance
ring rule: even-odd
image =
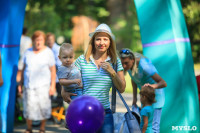
[[[192,54],[200,61],[200,0],[181,0]],[[73,16],[85,15],[111,26],[117,48],[142,51],[139,25],[133,0],[29,0],[24,25],[29,35],[35,30],[53,32],[70,42]]]

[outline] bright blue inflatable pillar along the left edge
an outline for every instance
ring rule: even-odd
[[[13,132],[16,73],[27,0],[0,1],[0,52],[4,84],[0,87],[0,132]]]

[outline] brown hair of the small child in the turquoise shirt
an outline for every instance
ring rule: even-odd
[[[140,95],[145,96],[146,99],[148,100],[148,103],[151,105],[156,102],[155,90],[150,86],[143,86],[140,91]]]

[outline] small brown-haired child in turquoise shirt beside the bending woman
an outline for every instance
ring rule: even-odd
[[[142,109],[140,112],[140,128],[142,130],[142,133],[153,133],[152,122],[154,109],[152,107],[152,104],[155,102],[155,90],[150,86],[142,86],[142,89],[140,91],[140,100],[142,103]]]

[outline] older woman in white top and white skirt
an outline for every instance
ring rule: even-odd
[[[23,84],[25,133],[32,133],[32,120],[41,120],[39,133],[44,133],[46,119],[51,117],[50,95],[55,92],[56,67],[52,50],[45,46],[45,37],[42,31],[34,32],[33,48],[29,48],[23,57],[19,90]]]

